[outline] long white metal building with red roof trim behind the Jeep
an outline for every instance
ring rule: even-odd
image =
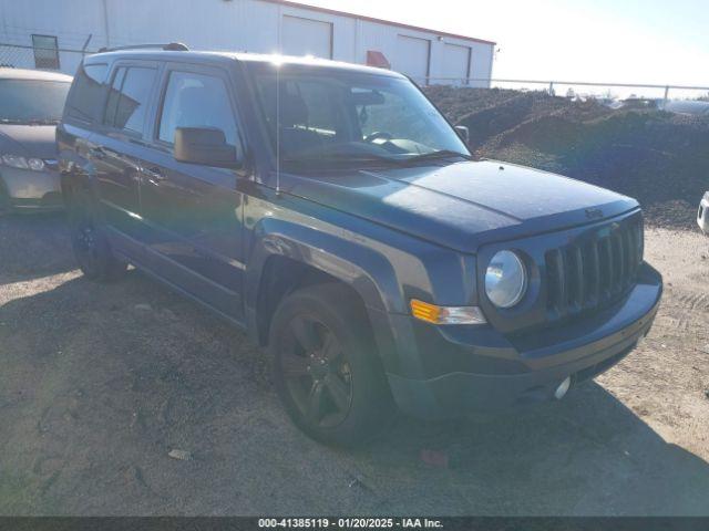
[[[389,65],[419,83],[489,86],[469,80],[492,76],[495,44],[282,0],[0,0],[0,49],[27,52],[16,54],[21,61],[0,55],[0,63],[70,74],[81,60],[70,50],[178,41],[193,50]]]

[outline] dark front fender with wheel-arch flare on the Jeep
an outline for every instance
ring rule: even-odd
[[[264,188],[250,191],[244,202],[244,294],[250,332],[258,331],[261,275],[274,256],[305,263],[354,289],[388,373],[399,374],[403,365],[409,366],[407,373],[417,371],[401,348],[411,341],[402,341],[401,327],[392,325],[397,316],[410,314],[410,299],[467,305],[476,298],[472,256],[304,198]]]

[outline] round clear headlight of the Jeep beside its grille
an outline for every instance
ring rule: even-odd
[[[512,308],[524,296],[527,273],[513,251],[500,251],[492,257],[485,271],[485,293],[497,308]]]

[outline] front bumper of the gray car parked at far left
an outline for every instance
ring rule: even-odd
[[[0,169],[0,186],[14,211],[63,208],[59,171],[3,167]]]

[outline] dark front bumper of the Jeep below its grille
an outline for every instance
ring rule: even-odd
[[[660,274],[644,264],[638,284],[623,301],[564,327],[502,336],[491,329],[410,323],[419,329],[418,333],[414,330],[415,341],[427,351],[419,354],[418,368],[430,373],[449,366],[427,378],[388,372],[392,395],[400,409],[422,418],[454,417],[551,399],[566,377],[571,376],[573,387],[625,357],[649,332],[661,292]],[[436,357],[443,360],[443,365],[429,364],[424,368],[423,360]],[[450,360],[458,360],[460,368],[450,366]],[[475,372],[466,371],[464,365]]]

